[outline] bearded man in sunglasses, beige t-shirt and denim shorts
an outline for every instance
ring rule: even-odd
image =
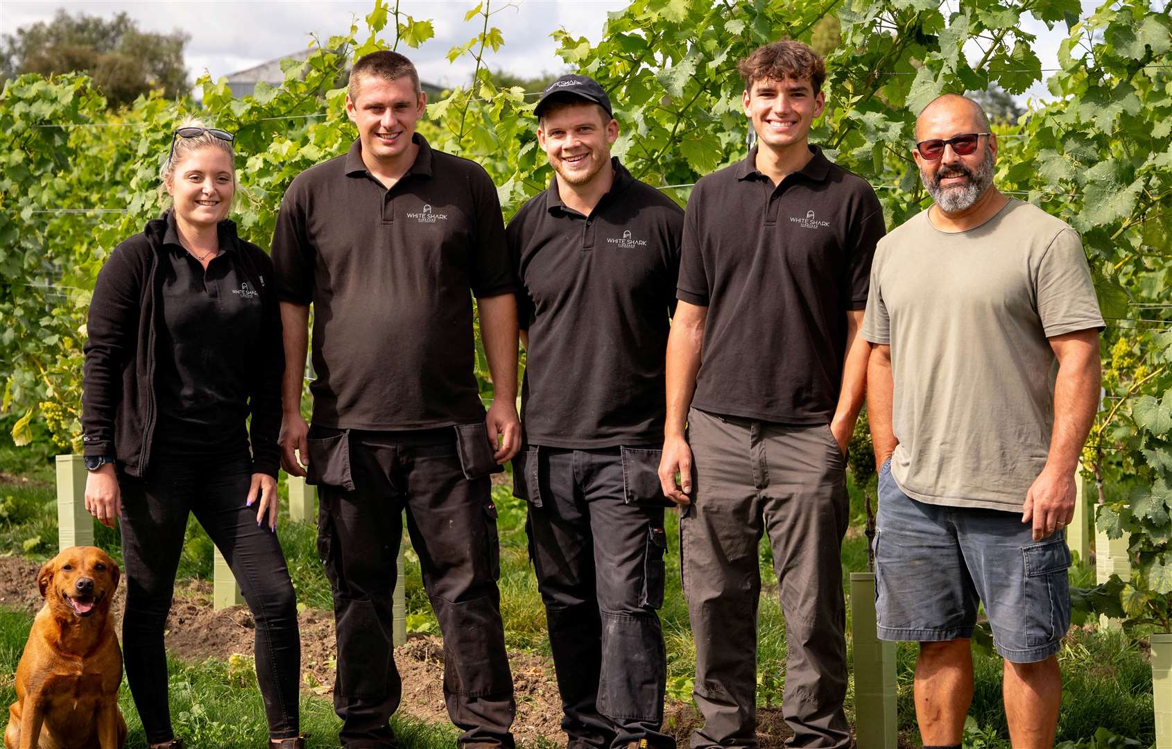
[[[917,121],[935,205],[879,243],[863,335],[879,465],[879,636],[920,642],[926,747],[960,747],[984,604],[1014,747],[1051,747],[1070,625],[1063,526],[1099,394],[1078,234],[993,185],[997,138],[954,94]]]

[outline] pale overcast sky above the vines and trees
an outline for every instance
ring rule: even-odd
[[[1083,12],[1089,13],[1101,1],[1085,0]],[[950,0],[949,5],[955,2]],[[402,0],[401,11],[417,19],[431,19],[435,25],[436,36],[432,40],[420,49],[407,50],[423,80],[454,86],[469,79],[475,64],[471,60],[465,57],[449,63],[444,55],[481,30],[475,20],[464,22],[464,14],[475,5],[473,0]],[[621,9],[627,2],[518,0],[509,6],[499,1],[495,5],[502,9],[492,16],[491,23],[502,30],[505,45],[496,54],[490,50],[489,64],[493,69],[527,76],[565,69],[554,54],[557,46],[550,38],[552,32],[565,28],[574,35],[598,41],[607,12]],[[143,30],[172,32],[178,28],[191,35],[186,59],[193,81],[204,70],[212,77],[219,77],[305,49],[311,33],[316,33],[325,42],[333,34],[347,32],[355,18],[359,28],[364,28],[362,19],[373,6],[373,0],[0,0],[0,33],[12,33],[21,26],[52,19],[57,8],[104,16],[125,11]],[[1057,67],[1056,54],[1065,27],[1059,25],[1054,32],[1048,32],[1041,22],[1027,20],[1023,28],[1037,34],[1035,53],[1042,67]],[[1027,96],[1045,97],[1044,84],[1035,86],[1027,91]]]

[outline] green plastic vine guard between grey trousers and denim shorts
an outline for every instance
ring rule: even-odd
[[[895,749],[895,644],[877,634],[875,576],[851,573],[854,731],[859,749]]]

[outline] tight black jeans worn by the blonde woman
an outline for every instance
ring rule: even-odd
[[[277,534],[267,525],[257,525],[255,504],[244,504],[251,479],[247,455],[231,461],[156,457],[143,478],[118,477],[127,577],[123,660],[150,743],[175,737],[166,701],[163,628],[189,512],[195,512],[232,567],[257,621],[257,681],[268,734],[273,738],[298,735],[301,638],[297,595]]]

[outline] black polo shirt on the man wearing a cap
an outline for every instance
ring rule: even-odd
[[[509,223],[529,331],[525,441],[560,448],[659,443],[663,358],[675,306],[683,211],[612,159],[614,184],[590,216],[557,178]]]

